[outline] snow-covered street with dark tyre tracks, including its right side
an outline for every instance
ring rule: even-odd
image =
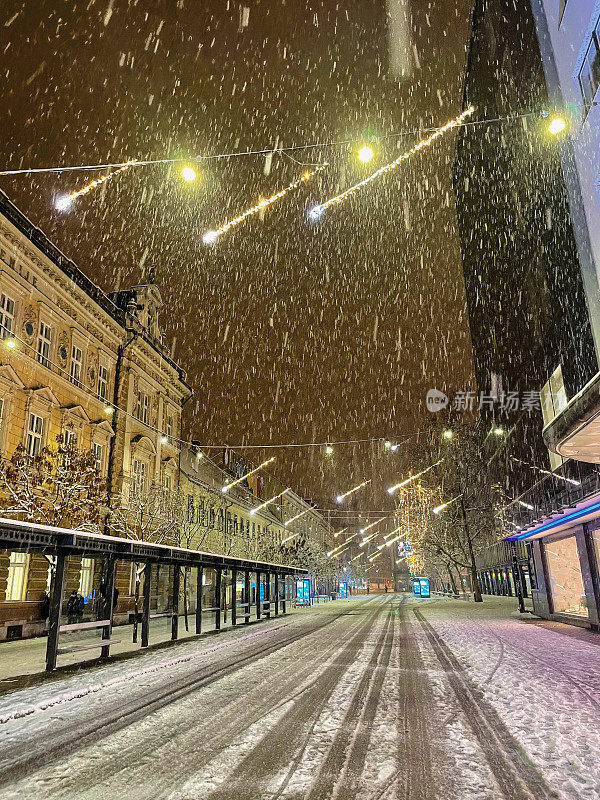
[[[514,602],[339,600],[5,693],[0,797],[598,800],[600,637]]]

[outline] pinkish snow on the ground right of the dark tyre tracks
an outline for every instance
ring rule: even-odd
[[[421,601],[417,607],[560,796],[598,800],[600,636],[519,617],[511,614],[514,605],[510,598],[486,598],[482,604]],[[419,639],[426,654],[430,646],[423,635]],[[439,663],[427,658],[436,691],[443,691],[443,678],[435,678]],[[468,736],[453,733],[455,724],[449,728],[455,756],[464,751],[468,757]],[[475,758],[469,770],[475,794],[469,795],[467,781],[459,796],[486,796],[477,787],[492,785],[487,771]]]

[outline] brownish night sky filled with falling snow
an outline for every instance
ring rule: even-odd
[[[400,4],[400,0],[397,0]],[[453,139],[379,179],[318,224],[307,211],[396,158],[461,103],[468,0],[412,2],[411,74],[390,74],[384,0],[71,0],[0,8],[3,168],[297,151],[330,167],[207,247],[202,236],[299,177],[288,157],[129,170],[76,201],[86,173],[0,178],[0,188],[106,291],[156,269],[162,324],[196,397],[203,443],[401,436],[425,392],[473,388],[450,171]],[[373,137],[377,161],[356,151]],[[374,165],[374,166],[373,166]],[[92,173],[92,177],[103,174]],[[264,451],[252,451],[260,460]],[[270,455],[270,454],[269,454]],[[278,454],[274,474],[327,506],[353,483],[397,478],[370,446]],[[389,499],[365,492],[361,508]]]

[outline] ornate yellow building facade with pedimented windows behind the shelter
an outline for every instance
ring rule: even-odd
[[[175,486],[192,391],[163,341],[161,306],[151,284],[102,292],[0,193],[0,456],[19,445],[35,456],[57,437],[92,451],[107,507],[132,487]],[[50,580],[44,556],[0,554],[0,639],[43,633]],[[93,564],[69,564],[68,592],[97,581]],[[125,565],[117,586],[126,606]]]

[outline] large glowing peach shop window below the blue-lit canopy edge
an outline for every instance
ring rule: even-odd
[[[575,537],[568,536],[557,542],[549,542],[544,550],[554,612],[587,617],[587,602]]]

